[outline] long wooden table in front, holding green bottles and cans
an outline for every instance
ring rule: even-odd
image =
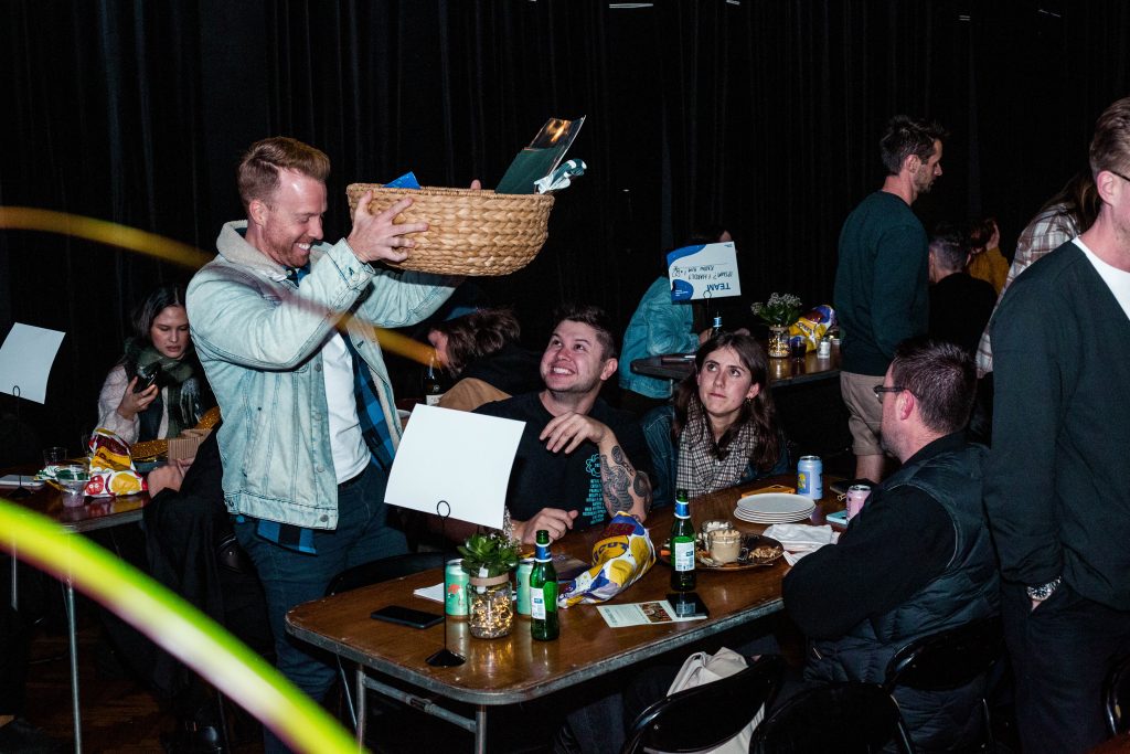
[[[709,519],[731,518],[739,529],[762,531],[765,527],[738,521],[731,514],[742,491],[774,482],[791,486],[796,478],[763,479],[704,495],[692,502],[692,518],[696,525]],[[825,511],[837,508],[842,506],[829,492],[812,514],[812,522],[823,523]],[[653,543],[659,545],[667,538],[671,520],[670,509],[647,519]],[[568,553],[588,562],[599,535],[599,530],[571,534],[554,544],[554,552]],[[365,693],[373,690],[472,731],[475,751],[485,752],[488,708],[544,696],[777,612],[782,607],[781,580],[786,572],[783,558],[764,569],[702,571],[697,591],[711,612],[705,621],[614,630],[600,617],[596,606],[579,605],[559,612],[560,639],[551,642],[533,641],[523,619],[515,623],[510,636],[479,640],[469,635],[464,622],[447,621],[446,629],[438,625],[417,630],[368,617],[374,609],[385,605],[442,610],[442,606],[412,595],[414,589],[443,580],[442,570],[437,569],[299,605],[287,615],[287,630],[357,664],[358,742],[365,737]],[[609,604],[666,599],[670,591],[669,580],[668,566],[657,563]],[[447,647],[462,655],[467,662],[452,668],[431,667],[426,660],[443,647],[445,630]],[[447,700],[472,704],[475,719],[455,714],[432,699],[390,686],[374,678],[373,673],[398,678]]]

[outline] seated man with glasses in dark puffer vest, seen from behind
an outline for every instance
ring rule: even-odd
[[[784,607],[810,640],[805,678],[881,683],[907,643],[993,615],[999,581],[981,501],[982,445],[965,441],[972,354],[914,339],[868,398],[884,448],[903,466],[871,491],[838,544],[784,579]],[[984,679],[945,692],[895,692],[914,744],[954,751],[979,734]]]

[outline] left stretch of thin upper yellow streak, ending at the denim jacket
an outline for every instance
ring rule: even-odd
[[[211,254],[206,254],[195,246],[166,239],[156,233],[147,233],[118,223],[53,209],[0,207],[0,228],[43,231],[97,241],[192,269],[200,268],[211,260]]]

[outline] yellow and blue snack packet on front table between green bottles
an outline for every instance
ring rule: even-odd
[[[611,599],[655,564],[655,546],[647,529],[627,513],[617,513],[592,546],[592,567],[562,584],[558,607],[592,605]]]

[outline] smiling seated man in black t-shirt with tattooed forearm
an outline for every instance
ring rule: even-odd
[[[525,422],[506,494],[515,538],[532,544],[538,529],[546,529],[559,539],[618,511],[646,517],[651,482],[643,432],[635,417],[598,397],[616,367],[607,314],[596,306],[566,307],[541,356],[545,389],[476,409]]]

